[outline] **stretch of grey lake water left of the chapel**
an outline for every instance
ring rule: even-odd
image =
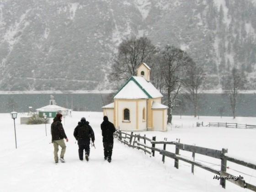
[[[3,94],[0,95],[0,113],[11,111],[28,112],[32,107],[32,112],[36,109],[49,105],[51,94]],[[56,105],[75,111],[102,112],[103,101],[107,102],[108,94],[53,94]],[[107,103],[108,104],[108,103]],[[106,105],[107,105],[106,104]],[[12,108],[13,107],[13,108]]]

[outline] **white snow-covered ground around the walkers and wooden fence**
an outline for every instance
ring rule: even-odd
[[[78,146],[73,131],[81,117],[86,117],[96,135],[96,149],[91,148],[89,162],[80,161]],[[50,123],[45,125],[20,124],[16,119],[15,147],[14,122],[9,113],[0,114],[0,191],[1,192],[247,192],[226,181],[226,189],[214,180],[214,174],[180,161],[179,169],[174,160],[162,156],[145,155],[143,151],[129,148],[114,140],[112,162],[104,161],[100,124],[101,112],[73,112],[72,117],[63,119],[66,143],[66,163],[55,165],[53,144],[51,144]],[[255,117],[173,117],[173,124],[167,132],[143,132],[148,138],[176,141],[184,144],[218,149],[227,148],[227,155],[256,164],[256,129],[196,127],[196,122],[228,122],[256,124]],[[162,148],[162,145],[156,147]],[[167,146],[175,152],[172,146]],[[191,153],[180,151],[191,157]],[[220,160],[196,154],[196,160],[219,170]],[[207,162],[207,163],[206,163]],[[243,176],[246,182],[256,185],[256,170],[228,163],[228,172]],[[239,172],[238,172],[239,171]]]

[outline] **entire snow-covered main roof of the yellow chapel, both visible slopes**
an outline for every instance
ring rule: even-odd
[[[146,99],[158,98],[163,95],[144,77],[132,76],[117,92],[114,99]]]

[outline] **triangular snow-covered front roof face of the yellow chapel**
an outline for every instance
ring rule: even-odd
[[[134,81],[129,81],[121,90],[114,96],[114,99],[147,99],[149,96],[136,85]]]

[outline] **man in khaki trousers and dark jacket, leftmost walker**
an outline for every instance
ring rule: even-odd
[[[53,119],[53,123],[51,125],[51,134],[52,134],[52,143],[54,147],[54,160],[55,163],[58,163],[59,160],[64,163],[64,154],[66,152],[66,145],[64,142],[64,138],[66,139],[66,142],[69,141],[69,139],[66,136],[66,133],[64,131],[64,128],[61,123],[62,119],[62,114],[57,113],[56,117]],[[61,147],[61,152],[60,152],[60,158],[58,157],[58,151],[59,151],[59,146]]]

